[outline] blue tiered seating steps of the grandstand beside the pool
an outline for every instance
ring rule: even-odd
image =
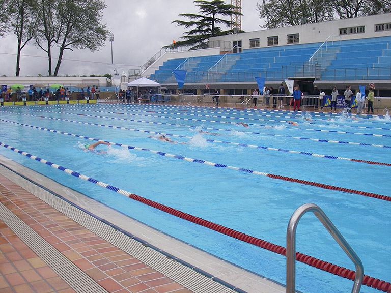
[[[186,70],[186,83],[197,82],[245,82],[254,76],[267,81],[285,78],[317,77],[320,80],[367,80],[391,79],[391,37],[346,40],[329,43],[327,51],[316,56],[319,76],[309,76],[308,61],[321,43],[273,46],[244,50],[228,54],[213,67],[223,55],[189,58],[180,66]],[[165,61],[151,79],[175,83],[172,71],[184,58]],[[212,70],[210,70],[213,67]],[[301,68],[301,69],[300,69]]]

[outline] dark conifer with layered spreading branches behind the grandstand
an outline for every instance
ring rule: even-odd
[[[219,16],[242,15],[240,12],[234,10],[236,8],[235,6],[226,4],[224,0],[194,0],[193,3],[199,7],[199,14],[179,14],[179,16],[189,18],[190,21],[175,20],[172,22],[178,26],[184,26],[186,29],[190,29],[184,32],[184,36],[180,37],[184,41],[176,42],[175,47],[192,46],[191,49],[207,48],[210,37],[226,35],[231,32],[231,30],[223,31],[219,25],[230,27],[234,23],[231,20],[226,20]]]

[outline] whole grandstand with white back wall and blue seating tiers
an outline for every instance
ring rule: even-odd
[[[186,70],[184,93],[250,94],[255,77],[278,87],[294,79],[306,94],[326,94],[333,85],[376,84],[375,94],[391,96],[391,14],[259,30],[210,38],[210,48],[167,51],[147,68],[148,76],[177,89],[173,70]],[[305,21],[304,21],[305,22]]]

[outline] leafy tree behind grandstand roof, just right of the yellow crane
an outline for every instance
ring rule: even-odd
[[[305,22],[321,22],[333,19],[333,10],[326,0],[267,0],[257,3],[261,19],[267,19],[263,27],[276,28]]]

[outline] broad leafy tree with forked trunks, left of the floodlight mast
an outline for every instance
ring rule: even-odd
[[[59,47],[53,76],[60,70],[65,50],[89,49],[94,52],[103,46],[108,31],[101,23],[104,0],[39,0],[41,20],[36,43],[48,54],[51,75],[51,48]],[[45,7],[44,7],[45,6]],[[46,45],[41,44],[42,40]]]

